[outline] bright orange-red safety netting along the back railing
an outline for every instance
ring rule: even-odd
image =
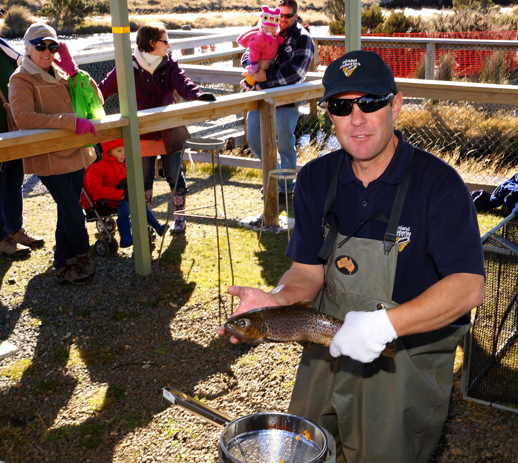
[[[472,40],[515,40],[516,31],[487,31],[487,32],[443,32],[435,34],[425,33],[396,33],[396,34],[365,34],[370,37],[415,37],[415,38],[455,38]],[[481,45],[481,48],[483,46]],[[518,48],[518,47],[517,47]],[[426,56],[425,49],[416,48],[383,48],[368,47],[368,43],[362,46],[362,50],[370,50],[378,53],[390,66],[395,77],[412,78],[421,61]],[[344,52],[343,46],[326,45],[324,40],[319,43],[319,65],[327,66],[333,60],[339,58]],[[454,62],[454,74],[459,77],[476,78],[480,75],[482,66],[491,57],[491,50],[455,50],[438,48],[435,54],[435,64],[439,64],[444,54],[450,54]],[[516,72],[516,51],[506,52],[508,72]]]

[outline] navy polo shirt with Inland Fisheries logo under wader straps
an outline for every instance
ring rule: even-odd
[[[402,133],[395,133],[399,143],[391,162],[367,188],[356,178],[350,157],[344,158],[332,208],[342,235],[349,236],[373,215],[390,217],[397,187],[413,153]],[[295,227],[285,253],[295,262],[322,263],[317,255],[324,243],[324,202],[339,152],[308,162],[297,175]],[[356,236],[383,241],[385,231],[386,223],[373,220]],[[398,304],[414,299],[445,276],[485,275],[477,213],[468,189],[451,166],[426,151],[419,152],[397,235],[400,251],[392,299]]]

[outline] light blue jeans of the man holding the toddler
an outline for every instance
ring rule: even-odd
[[[297,127],[298,107],[277,108],[275,110],[277,128],[277,152],[281,157],[279,169],[297,169],[295,149],[295,127]],[[261,159],[261,118],[259,111],[250,111],[247,116],[247,142],[256,158]],[[288,192],[295,188],[294,180],[287,180]],[[279,191],[284,192],[284,180],[279,179]]]

